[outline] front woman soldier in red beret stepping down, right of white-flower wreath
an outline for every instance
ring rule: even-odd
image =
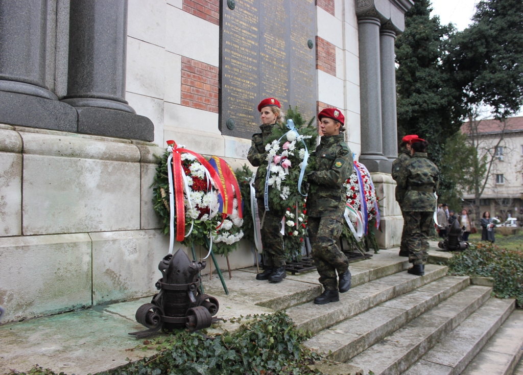
[[[335,108],[318,115],[322,137],[313,153],[313,170],[307,175],[310,184],[307,197],[308,232],[312,258],[325,291],[314,303],[339,301],[339,292],[350,289],[349,261],[337,242],[343,230],[346,196],[343,184],[353,173],[353,155],[344,142],[344,116]],[[338,271],[339,282],[336,277]]]

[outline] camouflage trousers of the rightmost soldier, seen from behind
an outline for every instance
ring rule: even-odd
[[[413,265],[425,264],[428,258],[428,238],[434,226],[434,212],[407,211],[403,213],[405,222],[408,262]]]

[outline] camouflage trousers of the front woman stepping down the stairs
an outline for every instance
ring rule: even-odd
[[[312,259],[320,274],[318,279],[327,289],[338,289],[338,274],[349,268],[349,260],[338,247],[343,223],[330,217],[308,219],[309,240],[312,247]]]

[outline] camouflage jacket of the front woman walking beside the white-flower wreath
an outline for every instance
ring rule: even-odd
[[[322,137],[313,157],[313,171],[307,176],[307,214],[341,220],[347,202],[343,184],[354,171],[353,154],[343,141],[343,134]]]

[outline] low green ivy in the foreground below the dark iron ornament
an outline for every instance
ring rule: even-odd
[[[309,367],[321,357],[303,345],[311,335],[300,331],[285,312],[248,315],[231,321],[241,323],[241,326],[234,332],[215,337],[180,330],[170,336],[145,340],[134,350],[154,350],[154,355],[99,375],[321,373]],[[26,373],[10,373],[14,374]],[[27,374],[55,375],[41,367],[35,367]]]

